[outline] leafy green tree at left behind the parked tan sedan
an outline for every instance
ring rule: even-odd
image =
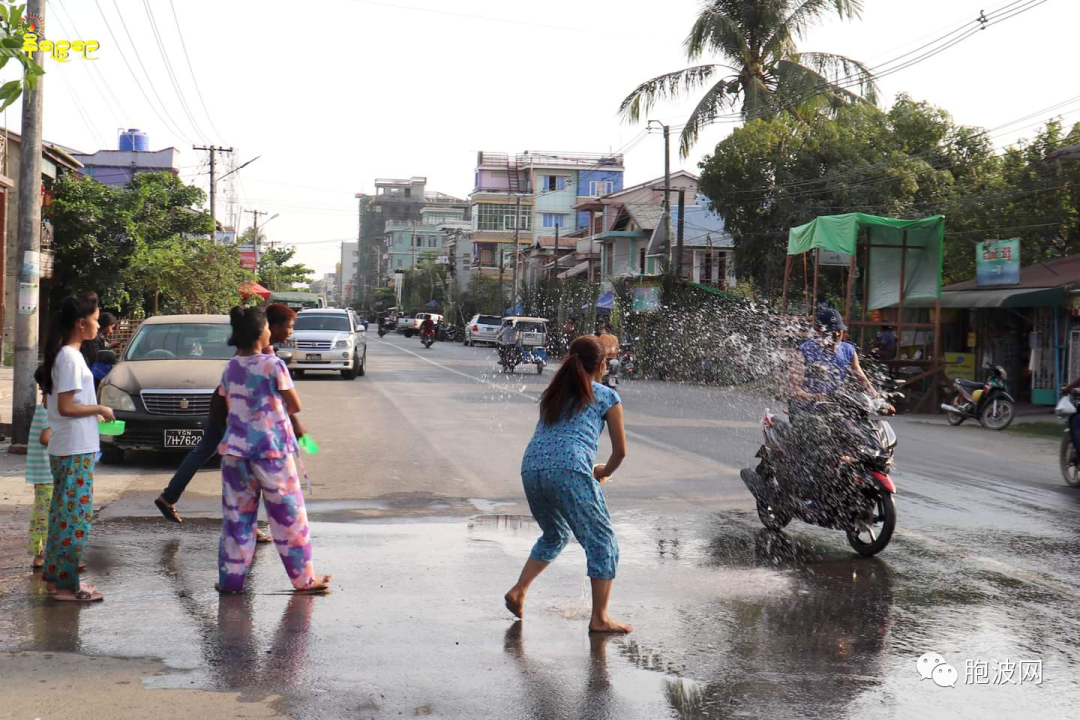
[[[46,216],[59,291],[94,289],[103,304],[125,314],[152,313],[162,297],[174,297],[171,276],[147,270],[151,259],[179,255],[194,262],[213,228],[210,215],[194,209],[205,193],[171,173],[140,173],[125,188],[67,174],[53,189]]]

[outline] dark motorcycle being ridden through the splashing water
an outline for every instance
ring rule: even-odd
[[[812,484],[801,480],[809,477],[806,463],[813,462],[796,436],[805,431],[765,411],[765,443],[756,456],[760,462],[740,473],[757,501],[757,515],[770,530],[783,529],[792,518],[843,530],[860,555],[880,553],[896,528],[896,486],[889,476],[896,434],[880,418],[892,407],[856,393],[820,403],[816,409],[822,412],[819,427],[827,436],[813,441],[838,451],[835,457],[825,453],[825,464],[810,468],[818,475]]]

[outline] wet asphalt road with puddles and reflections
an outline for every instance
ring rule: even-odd
[[[87,560],[104,603],[51,604],[32,580],[0,598],[0,651],[160,657],[148,688],[281,695],[305,718],[1075,717],[1080,498],[1054,444],[897,420],[896,536],[856,558],[839,532],[760,529],[737,471],[765,400],[625,382],[630,457],[607,495],[612,610],[635,631],[596,639],[576,544],[524,623],[501,608],[537,535],[516,464],[551,368],[503,378],[485,349],[400,337],[369,353],[359,381],[299,383],[334,594],[292,597],[261,548],[248,595],[219,598],[207,471],[181,531],[146,492],[102,511]],[[928,651],[955,688],[920,679]],[[1021,661],[1041,661],[1041,683]]]

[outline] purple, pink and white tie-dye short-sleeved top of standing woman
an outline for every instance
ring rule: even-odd
[[[237,355],[221,375],[229,422],[217,451],[248,459],[285,458],[297,451],[281,391],[293,388],[276,355]]]

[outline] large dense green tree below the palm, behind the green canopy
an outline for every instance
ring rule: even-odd
[[[791,116],[754,120],[719,142],[701,167],[701,190],[734,237],[740,277],[766,295],[780,289],[794,226],[851,212],[944,213],[947,231],[959,239],[993,227],[978,199],[1007,189],[985,133],[904,95],[888,112],[856,105],[811,124]],[[962,253],[972,255],[969,241]],[[960,252],[946,241],[946,267]]]

